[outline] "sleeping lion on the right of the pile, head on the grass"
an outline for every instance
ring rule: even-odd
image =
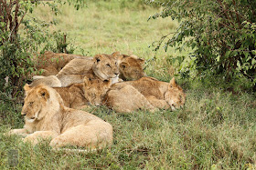
[[[156,108],[176,110],[185,104],[186,99],[182,88],[176,85],[175,78],[168,84],[152,77],[143,77],[136,81],[114,84],[107,93],[101,90],[90,91],[95,85],[93,82],[87,85],[89,90],[85,97],[93,103],[91,96],[101,93],[104,95],[102,104],[116,112],[129,113],[138,109],[155,111]]]

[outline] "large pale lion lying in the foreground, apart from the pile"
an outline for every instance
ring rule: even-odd
[[[25,115],[24,128],[13,129],[9,134],[24,135],[24,141],[34,145],[38,138],[51,138],[49,145],[53,147],[77,145],[93,149],[112,144],[112,125],[95,115],[64,106],[51,87],[27,87],[21,112]]]

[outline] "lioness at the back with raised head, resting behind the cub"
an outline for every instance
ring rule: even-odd
[[[83,77],[99,78],[103,80],[112,79],[118,81],[118,65],[112,55],[95,55],[92,60],[73,59],[60,70],[57,77],[61,86],[81,83]]]

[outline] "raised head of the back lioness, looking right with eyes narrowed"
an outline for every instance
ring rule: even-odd
[[[112,55],[95,55],[92,70],[102,81],[119,76],[118,63]]]

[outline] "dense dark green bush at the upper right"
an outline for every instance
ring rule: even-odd
[[[161,39],[165,50],[188,46],[199,74],[221,75],[226,82],[245,77],[255,88],[256,1],[169,0],[160,4],[164,9],[152,18],[171,17],[180,22],[176,33]]]

